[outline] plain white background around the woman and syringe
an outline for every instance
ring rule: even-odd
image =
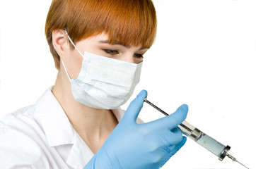
[[[149,101],[168,113],[187,104],[188,122],[256,168],[256,1],[155,2],[158,34],[131,99],[146,89]],[[54,84],[57,70],[44,35],[50,3],[0,0],[0,118],[34,104]],[[146,104],[140,114],[145,122],[161,117]],[[163,168],[243,167],[188,139]]]

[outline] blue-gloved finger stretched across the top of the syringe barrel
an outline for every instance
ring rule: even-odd
[[[163,130],[177,127],[182,123],[187,117],[188,106],[183,104],[180,106],[175,113],[170,114],[164,118],[160,118],[158,120],[154,120],[152,122],[146,123],[150,128],[150,130]]]

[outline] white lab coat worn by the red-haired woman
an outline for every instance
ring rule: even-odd
[[[83,168],[93,157],[47,89],[33,106],[0,121],[0,168]],[[120,121],[122,109],[112,112]],[[143,123],[139,118],[137,123]]]

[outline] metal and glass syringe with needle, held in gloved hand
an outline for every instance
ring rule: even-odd
[[[165,111],[162,111],[161,108],[158,108],[154,104],[152,104],[150,101],[148,101],[146,98],[144,99],[144,102],[147,104],[153,106],[153,108],[156,108],[158,111],[163,113],[164,115],[169,115],[168,113],[165,113]],[[178,125],[180,130],[183,134],[185,134],[187,137],[190,137],[190,139],[194,140],[194,142],[197,142],[197,144],[200,144],[205,149],[211,151],[211,153],[215,154],[219,157],[220,161],[223,161],[223,159],[228,156],[228,158],[231,158],[233,161],[240,163],[236,158],[228,154],[228,151],[231,149],[230,146],[224,146],[220,142],[217,142],[215,139],[209,137],[209,135],[205,134],[201,130],[197,129],[190,123],[187,123],[187,121],[183,121],[180,125]],[[240,163],[243,165],[242,163]],[[243,165],[245,168],[245,165]],[[248,168],[249,169],[249,168]]]

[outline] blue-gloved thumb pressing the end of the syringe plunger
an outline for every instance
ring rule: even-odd
[[[146,92],[146,90],[141,90],[141,92],[139,92],[139,94],[131,102],[131,104],[129,104],[129,107],[127,108],[127,111],[125,111],[122,120],[128,120],[130,122],[136,123],[136,118],[138,117],[139,112],[141,111],[144,99],[146,98],[147,95],[148,92]]]

